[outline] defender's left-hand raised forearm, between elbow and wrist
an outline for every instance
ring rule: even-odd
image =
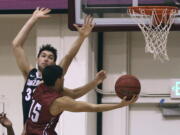
[[[36,23],[37,18],[31,17],[26,24],[22,27],[22,29],[19,31],[17,36],[12,42],[13,47],[22,47],[25,40],[27,39],[29,32],[31,31],[32,27]]]

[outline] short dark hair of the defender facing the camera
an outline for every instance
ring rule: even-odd
[[[47,45],[43,45],[40,50],[39,50],[39,53],[38,53],[38,57],[40,56],[41,52],[42,51],[50,51],[53,53],[54,55],[54,62],[56,62],[56,59],[57,59],[57,49],[55,49],[54,47],[52,47],[50,44],[47,44]]]

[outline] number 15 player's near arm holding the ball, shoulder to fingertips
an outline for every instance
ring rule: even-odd
[[[50,113],[54,116],[62,111],[70,112],[103,112],[121,108],[134,103],[137,100],[134,96],[131,100],[126,101],[125,98],[119,104],[91,104],[88,102],[75,101],[74,99],[64,96],[56,99],[50,107]]]

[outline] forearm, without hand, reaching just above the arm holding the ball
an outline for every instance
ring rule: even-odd
[[[82,87],[79,87],[79,88],[73,90],[74,99],[79,98],[79,97],[85,95],[90,90],[94,89],[97,85],[98,85],[98,81],[96,79],[94,79],[90,83],[88,83],[88,84],[86,84],[86,85],[84,85]]]

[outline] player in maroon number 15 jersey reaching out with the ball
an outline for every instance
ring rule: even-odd
[[[63,69],[56,65],[47,66],[42,73],[44,83],[40,84],[33,95],[29,118],[26,122],[26,135],[56,135],[55,127],[63,111],[102,112],[117,109],[134,103],[136,96],[130,101],[125,98],[119,104],[91,104],[75,101],[73,96],[64,92]],[[93,89],[106,78],[105,71],[97,73],[94,80],[80,89]]]

